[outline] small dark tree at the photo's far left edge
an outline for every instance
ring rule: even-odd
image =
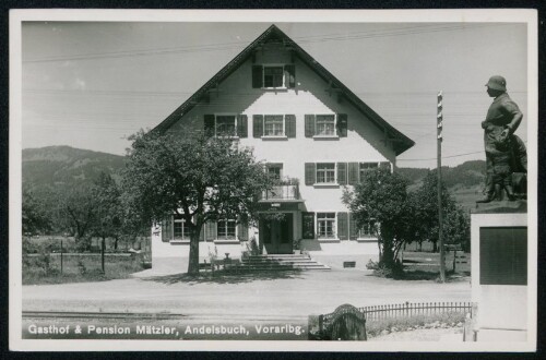
[[[51,229],[50,214],[27,185],[23,185],[22,206],[23,235],[34,235]]]

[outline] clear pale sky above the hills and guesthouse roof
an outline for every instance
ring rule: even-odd
[[[272,23],[24,22],[23,148],[124,155],[131,134],[157,125]],[[525,23],[274,23],[415,141],[399,167],[436,167],[439,91],[442,165],[485,159],[491,75],[507,79],[527,139]]]

